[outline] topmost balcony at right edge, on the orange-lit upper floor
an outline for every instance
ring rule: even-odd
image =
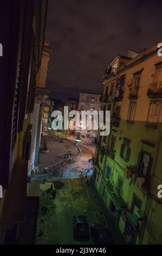
[[[162,98],[162,81],[157,83],[151,83],[147,90],[147,96],[150,99]]]

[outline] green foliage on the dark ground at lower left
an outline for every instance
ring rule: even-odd
[[[51,199],[51,196],[48,193],[43,193],[40,197],[38,216],[41,218],[45,215],[46,218],[49,218],[53,215],[55,208],[56,206],[54,204],[54,200]]]

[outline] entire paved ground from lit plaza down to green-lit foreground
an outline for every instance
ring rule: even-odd
[[[51,139],[48,140],[49,153],[41,154],[41,173],[32,178],[31,183],[28,184],[28,196],[42,197],[43,191],[40,189],[40,184],[43,181],[43,169],[50,164],[54,164],[55,162],[53,161],[58,161],[56,156],[58,152],[59,154],[66,153],[66,144],[67,142],[60,143],[51,141]],[[57,188],[57,196],[52,201],[55,205],[55,211],[50,218],[47,219],[45,217],[44,225],[42,218],[38,218],[36,244],[92,245],[91,238],[87,242],[74,240],[73,215],[75,214],[86,214],[89,225],[95,223],[108,224],[115,243],[125,243],[119,229],[111,216],[108,215],[99,194],[93,189],[93,186],[89,188],[82,179],[79,179],[81,170],[87,169],[90,165],[88,160],[94,154],[94,145],[80,142],[79,147],[82,150],[82,154],[77,161],[58,168],[53,172],[51,179],[48,180],[48,182],[54,182]],[[74,150],[76,150],[75,147]],[[43,235],[41,234],[42,231]]]

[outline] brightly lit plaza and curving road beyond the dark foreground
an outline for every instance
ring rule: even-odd
[[[72,150],[72,156],[74,158],[73,163],[63,163],[61,166],[56,166],[51,170],[50,179],[77,179],[80,178],[83,172],[91,166],[88,162],[92,159],[92,155],[95,153],[95,145],[92,143],[80,142],[77,145],[81,149],[81,154],[78,154],[78,149],[72,143],[63,140],[62,142],[54,141],[54,139],[46,138],[47,147],[49,153],[40,153],[39,173],[31,179],[32,182],[43,181],[44,179],[44,167],[53,168],[54,164],[63,161],[64,154],[68,150]]]

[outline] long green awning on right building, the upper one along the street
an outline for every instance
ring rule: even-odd
[[[126,203],[121,197],[116,196],[115,192],[113,191],[113,186],[111,184],[107,184],[106,191],[109,197],[112,199],[116,209],[121,210],[127,208]]]

